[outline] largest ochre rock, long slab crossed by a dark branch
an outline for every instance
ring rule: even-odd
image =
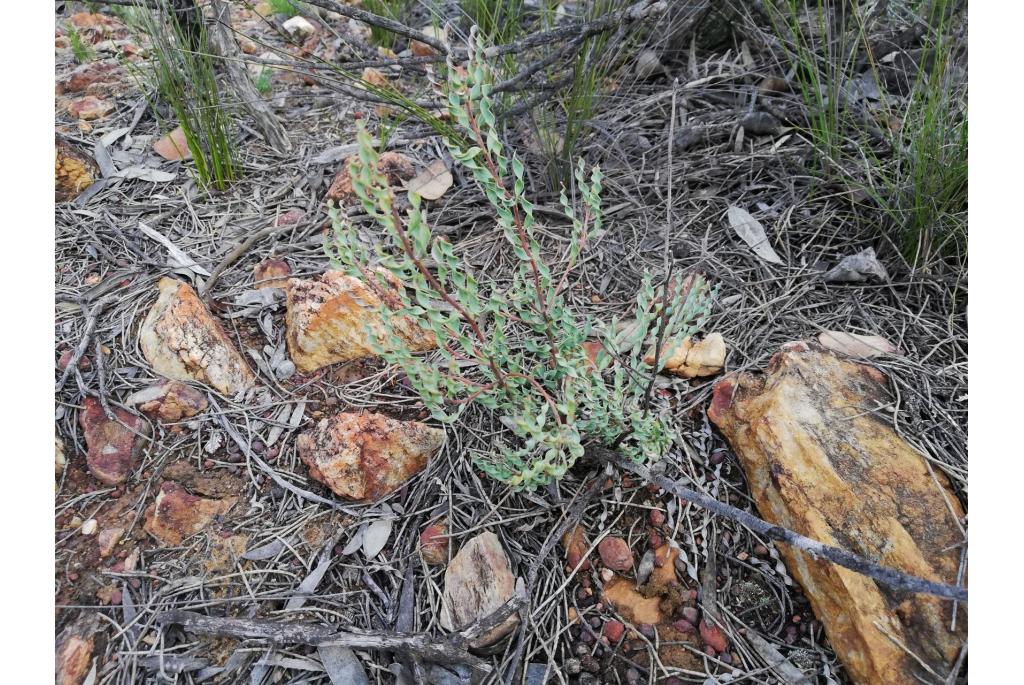
[[[956,582],[964,517],[945,475],[893,430],[885,377],[817,343],[790,343],[764,375],[728,377],[708,414],[768,521],[885,566]],[[955,517],[955,518],[954,518]],[[967,636],[961,604],[897,592],[793,547],[779,550],[852,680],[923,682],[899,641],[945,678]],[[888,634],[888,635],[887,635]]]

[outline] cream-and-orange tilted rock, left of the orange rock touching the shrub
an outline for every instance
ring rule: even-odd
[[[191,286],[161,279],[160,297],[139,332],[142,354],[161,376],[206,383],[225,395],[256,383],[242,354]]]

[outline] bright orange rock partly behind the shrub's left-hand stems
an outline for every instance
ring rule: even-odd
[[[296,369],[308,374],[339,361],[351,361],[374,354],[367,328],[384,345],[388,337],[377,308],[378,291],[341,271],[328,271],[316,281],[288,281],[286,340]],[[386,293],[384,293],[386,295]],[[414,351],[437,346],[434,335],[411,318],[391,318],[395,332]]]

